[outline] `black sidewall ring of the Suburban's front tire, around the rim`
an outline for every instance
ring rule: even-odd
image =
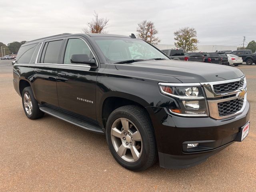
[[[116,150],[114,149],[110,133],[111,133],[112,124],[118,118],[126,118],[126,119],[130,120],[136,126],[138,131],[140,132],[140,136],[142,137],[142,154],[136,162],[132,162],[132,163],[126,162],[120,156],[118,156],[118,154],[116,153]],[[134,116],[130,112],[120,109],[120,110],[116,110],[116,111],[112,112],[112,114],[110,114],[107,124],[106,124],[106,139],[108,142],[108,147],[110,149],[110,152],[112,153],[114,158],[118,162],[120,162],[124,167],[131,169],[131,170],[133,170],[133,169],[136,170],[136,169],[140,168],[141,166],[143,166],[143,164],[147,161],[147,157],[148,157],[149,150],[150,150],[149,149],[149,146],[150,146],[149,139],[146,135],[145,130],[143,129],[143,125],[141,124],[141,122],[138,120],[138,118],[136,118],[136,116]]]

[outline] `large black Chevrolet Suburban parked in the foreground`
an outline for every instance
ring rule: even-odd
[[[249,132],[246,78],[170,60],[134,35],[60,34],[26,42],[13,67],[26,116],[106,135],[116,161],[144,170],[206,160]]]

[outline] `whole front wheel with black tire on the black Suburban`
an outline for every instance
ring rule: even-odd
[[[106,139],[111,154],[124,168],[141,171],[156,162],[153,126],[144,108],[127,105],[114,110],[107,120]]]

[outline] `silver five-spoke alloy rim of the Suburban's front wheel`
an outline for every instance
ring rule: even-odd
[[[126,118],[118,118],[111,127],[114,150],[126,162],[136,162],[142,154],[142,138],[136,126]]]

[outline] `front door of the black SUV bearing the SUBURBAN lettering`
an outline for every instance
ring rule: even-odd
[[[87,54],[90,59],[95,58],[96,54],[91,50],[85,38],[66,39],[62,64],[59,64],[57,69],[57,91],[60,108],[96,120],[98,67],[70,62],[72,54]],[[97,62],[96,58],[95,60]]]

